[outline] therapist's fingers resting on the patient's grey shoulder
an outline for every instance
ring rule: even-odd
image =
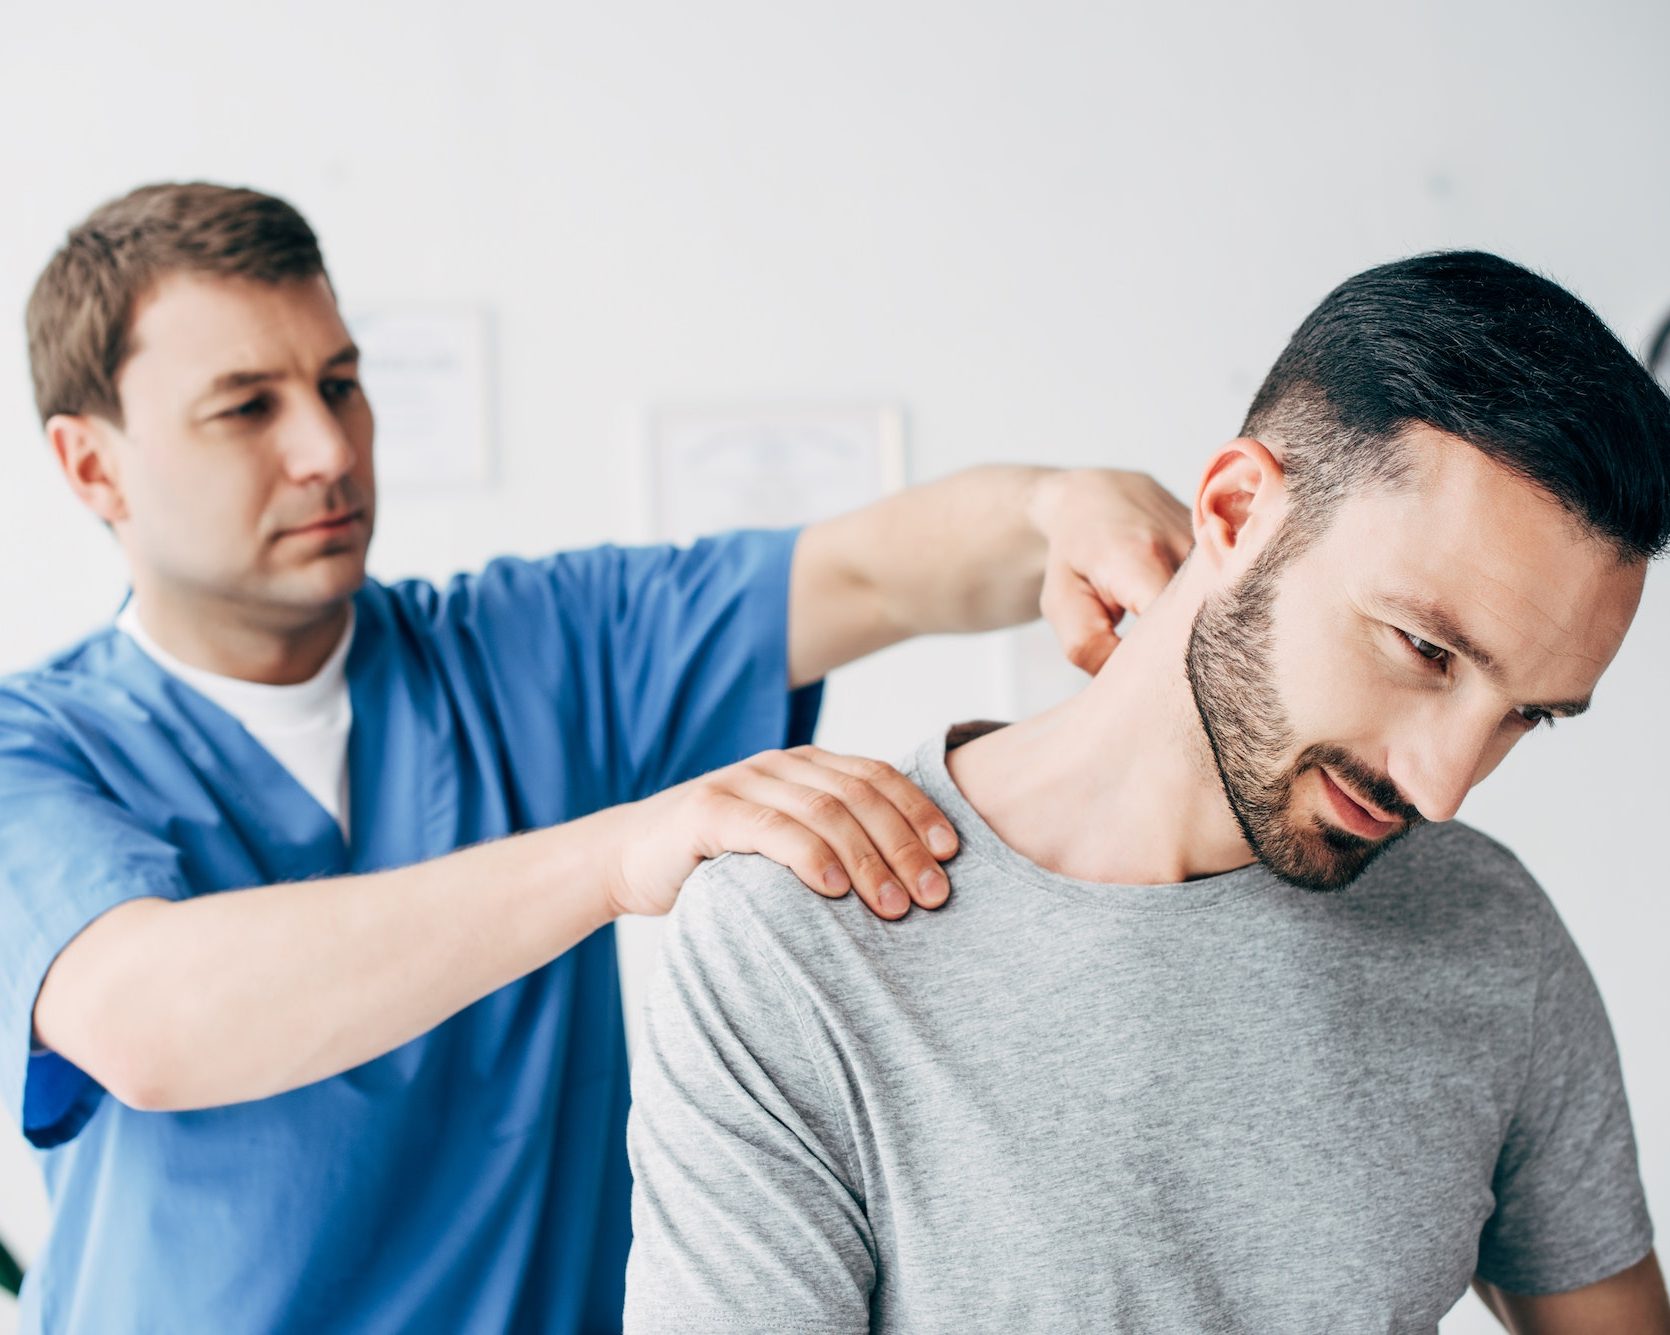
[[[912,901],[937,909],[950,894],[922,835],[885,792],[860,775],[777,754],[770,767],[738,767],[730,785],[762,812],[763,825],[770,827],[775,815],[833,849],[845,879],[878,917],[903,917]],[[918,800],[925,799],[918,794]],[[827,894],[845,889],[838,879],[807,884]]]

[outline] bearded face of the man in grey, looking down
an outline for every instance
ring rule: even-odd
[[[1450,820],[1528,733],[1588,708],[1642,596],[1555,498],[1414,428],[1416,481],[1289,496],[1196,613],[1189,687],[1252,854],[1306,889],[1351,884],[1421,820]],[[1231,571],[1237,571],[1231,578]]]

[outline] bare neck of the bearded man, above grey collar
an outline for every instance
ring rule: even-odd
[[[1079,695],[949,755],[957,787],[1009,847],[1062,876],[1127,886],[1252,860],[1184,672],[1191,625],[1162,598]]]

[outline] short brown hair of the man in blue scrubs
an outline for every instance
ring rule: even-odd
[[[94,209],[28,297],[28,366],[42,423],[92,413],[122,423],[115,378],[135,302],[172,272],[261,282],[324,272],[319,239],[282,199],[230,185],[140,185]]]

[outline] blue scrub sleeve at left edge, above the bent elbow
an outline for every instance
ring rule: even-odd
[[[58,952],[129,899],[184,899],[179,850],[99,784],[50,712],[0,693],[0,1099],[38,1148],[87,1123],[104,1089],[33,1049],[35,997]]]

